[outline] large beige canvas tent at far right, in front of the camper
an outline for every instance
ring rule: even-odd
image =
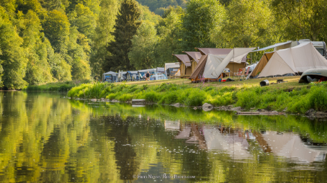
[[[310,43],[277,50],[258,77],[303,73],[310,68],[327,68],[327,60]]]

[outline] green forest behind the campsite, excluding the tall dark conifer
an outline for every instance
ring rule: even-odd
[[[327,40],[324,0],[0,0],[1,88],[99,79],[124,68],[108,51],[124,2],[137,18],[127,40],[129,69],[163,66],[196,47]]]

